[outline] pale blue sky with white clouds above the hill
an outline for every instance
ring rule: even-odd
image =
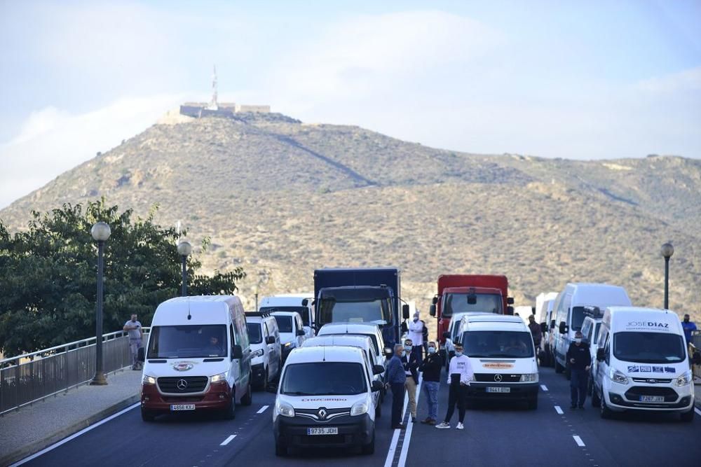
[[[0,208],[210,96],[470,153],[701,158],[701,1],[0,0]]]

